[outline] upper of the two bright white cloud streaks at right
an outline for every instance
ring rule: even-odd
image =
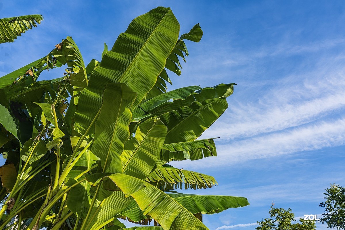
[[[339,92],[324,98],[305,101],[300,104],[284,104],[275,108],[259,108],[247,106],[233,109],[235,116],[242,114],[242,119],[216,124],[207,132],[210,137],[234,139],[236,137],[252,137],[257,134],[283,130],[315,121],[336,109],[345,106],[345,93]],[[229,116],[231,113],[229,113]]]

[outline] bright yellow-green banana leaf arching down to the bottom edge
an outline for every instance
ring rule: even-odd
[[[208,229],[186,208],[155,186],[125,174],[109,176],[126,194],[138,203],[144,215],[148,214],[164,229],[203,230]]]

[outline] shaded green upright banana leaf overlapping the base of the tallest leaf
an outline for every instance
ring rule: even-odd
[[[130,135],[130,108],[135,98],[136,93],[126,84],[107,84],[92,145],[93,154],[101,159],[102,167],[105,168],[103,172],[122,172],[120,155]]]

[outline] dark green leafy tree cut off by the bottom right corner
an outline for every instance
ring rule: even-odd
[[[320,203],[325,212],[320,221],[326,223],[327,228],[345,229],[345,188],[334,183],[325,190],[326,201]]]

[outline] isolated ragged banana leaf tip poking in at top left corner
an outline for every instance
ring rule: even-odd
[[[0,43],[13,42],[21,33],[37,27],[36,23],[40,24],[42,20],[40,14],[0,19]]]

